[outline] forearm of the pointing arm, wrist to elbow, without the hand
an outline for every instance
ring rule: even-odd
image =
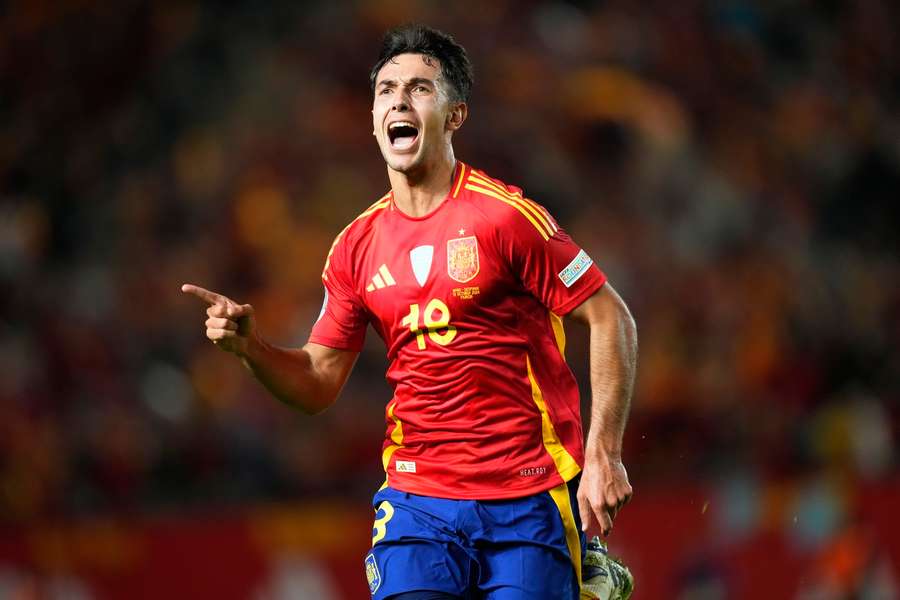
[[[280,348],[257,338],[240,358],[275,398],[306,414],[328,408],[340,391],[328,384],[306,348]]]

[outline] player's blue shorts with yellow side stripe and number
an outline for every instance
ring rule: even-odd
[[[433,590],[473,600],[578,600],[585,545],[578,479],[510,500],[382,488],[365,559],[372,597]]]

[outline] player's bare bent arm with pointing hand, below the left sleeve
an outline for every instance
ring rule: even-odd
[[[208,304],[206,337],[241,359],[278,400],[307,414],[322,412],[337,398],[350,376],[358,352],[309,343],[279,348],[259,337],[253,307],[202,287],[181,291]]]

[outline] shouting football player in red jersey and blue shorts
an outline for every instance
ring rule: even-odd
[[[309,342],[274,347],[250,305],[182,289],[209,303],[207,337],[310,414],[337,397],[369,323],[385,341],[394,397],[365,560],[374,598],[577,599],[584,532],[608,534],[631,496],[634,322],[542,206],[454,157],[472,85],[461,46],[422,26],[391,31],[371,84],[391,191],[335,239]],[[586,446],[566,314],[590,327]],[[589,558],[586,597],[627,597],[630,575],[605,548]]]

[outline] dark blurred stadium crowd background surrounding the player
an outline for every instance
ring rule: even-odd
[[[898,597],[898,12],[5,3],[0,598],[368,597],[380,341],[308,418],[179,285],[305,341],[332,238],[387,188],[367,74],[412,20],[475,64],[458,156],[547,205],[636,316],[610,541],[635,598]]]

